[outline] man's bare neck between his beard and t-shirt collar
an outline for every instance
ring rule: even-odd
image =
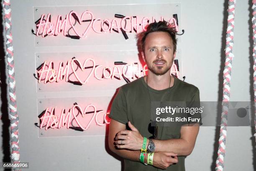
[[[154,73],[151,73],[149,71],[146,77],[144,77],[145,82],[148,83],[149,87],[155,90],[164,90],[174,85],[174,78],[170,76],[169,71],[164,75],[155,75]],[[170,79],[171,79],[171,83],[170,83]]]

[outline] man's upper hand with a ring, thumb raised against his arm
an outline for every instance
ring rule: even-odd
[[[126,148],[129,150],[141,150],[143,144],[143,136],[139,133],[138,129],[135,128],[128,122],[128,126],[132,131],[123,130],[119,131],[115,137],[115,144],[117,148]]]

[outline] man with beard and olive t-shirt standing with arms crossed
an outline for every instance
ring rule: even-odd
[[[184,171],[184,156],[195,146],[198,123],[162,126],[156,129],[161,138],[149,138],[152,101],[186,101],[188,106],[200,101],[197,87],[170,76],[176,55],[175,33],[165,21],[148,25],[141,33],[148,75],[121,86],[113,100],[108,142],[110,150],[125,159],[125,171]]]

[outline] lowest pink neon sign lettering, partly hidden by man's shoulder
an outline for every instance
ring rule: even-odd
[[[40,129],[45,128],[45,130],[48,130],[49,128],[54,129],[64,126],[70,128],[70,124],[73,125],[73,120],[75,121],[76,125],[84,131],[88,130],[93,122],[96,123],[97,126],[104,126],[110,123],[108,118],[109,112],[104,113],[104,115],[102,116],[103,111],[97,111],[96,106],[93,104],[87,105],[84,110],[81,106],[74,104],[72,108],[69,108],[69,110],[67,110],[67,113],[66,110],[62,108],[59,115],[55,114],[55,109],[56,108],[46,108],[43,115],[40,117]],[[93,114],[92,116],[88,117],[87,113]],[[103,118],[100,119],[100,116]]]

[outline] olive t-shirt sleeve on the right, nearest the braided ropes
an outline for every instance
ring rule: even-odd
[[[188,120],[189,124],[191,123],[199,123],[200,126],[202,125],[202,108],[200,108],[200,93],[199,89],[196,88],[194,93],[192,94],[192,98],[190,101],[187,101],[187,107],[189,108],[190,113],[187,113],[187,117],[190,117]]]

